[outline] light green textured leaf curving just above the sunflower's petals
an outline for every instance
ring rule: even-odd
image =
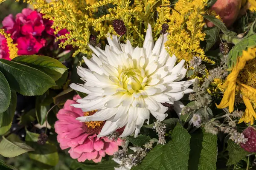
[[[232,69],[234,65],[236,65],[237,57],[243,54],[243,50],[246,50],[250,47],[256,46],[256,34],[250,35],[249,37],[244,37],[240,42],[238,42],[233,48],[230,50],[228,54],[228,67]]]

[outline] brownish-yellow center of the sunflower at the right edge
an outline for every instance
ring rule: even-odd
[[[256,88],[256,58],[246,62],[244,69],[239,73],[238,79],[241,83]]]

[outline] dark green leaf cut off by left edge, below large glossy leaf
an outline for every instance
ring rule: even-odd
[[[0,71],[0,114],[2,114],[10,105],[11,101],[11,89],[4,77],[3,73]]]

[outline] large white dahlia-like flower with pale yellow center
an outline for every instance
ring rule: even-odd
[[[91,116],[79,117],[81,122],[106,121],[99,137],[109,135],[124,127],[120,137],[138,136],[140,128],[150,113],[157,120],[164,120],[167,107],[161,103],[174,105],[179,115],[184,106],[179,100],[194,80],[181,81],[186,75],[185,60],[177,65],[175,55],[169,56],[164,43],[167,34],[160,35],[154,45],[151,26],[145,36],[143,48],[133,48],[131,42],[120,44],[117,36],[107,37],[109,45],[105,51],[89,45],[95,54],[92,59],[84,57],[88,68],[78,67],[77,72],[84,85],[71,84],[76,91],[88,94],[74,104],[83,111],[98,110]]]

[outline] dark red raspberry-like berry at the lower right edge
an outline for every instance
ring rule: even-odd
[[[248,152],[256,152],[256,129],[254,127],[247,127],[243,134],[248,140],[244,144],[241,143],[240,146]]]

